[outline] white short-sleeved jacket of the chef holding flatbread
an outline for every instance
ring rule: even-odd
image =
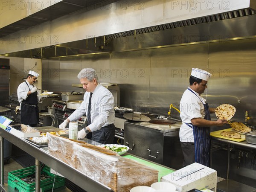
[[[191,124],[191,119],[204,119],[205,116],[203,104],[205,104],[206,99],[197,92],[193,92],[195,94],[188,89],[185,90],[180,100],[180,118],[182,120],[182,125],[180,127],[180,142],[194,143],[193,129],[185,123]]]

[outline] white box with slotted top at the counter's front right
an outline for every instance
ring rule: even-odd
[[[161,181],[174,184],[179,192],[187,192],[191,189],[209,189],[214,192],[217,190],[217,172],[199,163],[193,163],[163,176]]]

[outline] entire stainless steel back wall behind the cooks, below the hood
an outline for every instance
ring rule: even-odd
[[[255,43],[256,38],[252,38],[43,60],[43,70],[45,62],[49,62],[50,72],[49,80],[43,77],[43,89],[81,91],[71,85],[79,83],[77,74],[81,68],[92,67],[100,82],[119,84],[122,107],[167,116],[171,103],[179,108],[192,67],[209,68],[213,74],[207,89],[210,107],[229,103],[237,108],[234,120],[243,121],[245,111],[249,111],[250,121],[255,121]],[[172,116],[179,114],[173,111]]]

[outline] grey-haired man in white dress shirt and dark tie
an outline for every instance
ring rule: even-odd
[[[76,111],[59,125],[59,128],[66,128],[69,122],[76,121],[86,114],[87,127],[79,131],[78,139],[82,139],[92,132],[93,141],[112,144],[115,136],[115,111],[112,93],[99,84],[96,71],[92,68],[82,69],[77,77],[86,90],[84,101]]]

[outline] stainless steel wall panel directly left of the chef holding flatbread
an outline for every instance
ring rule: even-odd
[[[179,108],[192,68],[207,70],[207,64],[208,44],[151,49],[150,112],[167,116],[171,103]]]

